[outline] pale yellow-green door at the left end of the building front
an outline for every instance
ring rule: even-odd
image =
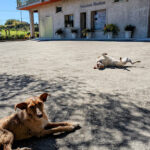
[[[52,38],[53,37],[53,21],[52,17],[44,17],[40,21],[40,37]]]

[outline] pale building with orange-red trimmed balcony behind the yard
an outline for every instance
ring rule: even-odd
[[[17,9],[30,13],[31,35],[34,36],[34,12],[39,14],[40,38],[57,38],[63,29],[63,38],[71,38],[71,29],[94,30],[92,38],[106,38],[105,24],[116,24],[124,38],[126,25],[136,26],[135,38],[150,36],[150,0],[17,0]]]

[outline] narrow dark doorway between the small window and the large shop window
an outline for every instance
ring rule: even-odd
[[[81,38],[84,38],[85,35],[82,34],[82,30],[86,29],[86,13],[80,14],[80,29],[81,29]]]

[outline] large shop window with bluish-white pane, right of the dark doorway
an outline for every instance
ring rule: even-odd
[[[106,25],[106,10],[93,11],[91,17],[92,29],[103,30]]]

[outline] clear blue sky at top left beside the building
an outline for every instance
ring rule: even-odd
[[[7,19],[17,19],[29,22],[29,12],[17,10],[17,0],[0,0],[0,25],[3,25]],[[22,12],[22,13],[21,13]],[[38,22],[38,16],[35,14],[35,23]]]

